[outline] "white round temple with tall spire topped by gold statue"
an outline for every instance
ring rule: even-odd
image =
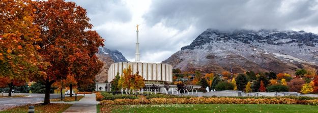
[[[172,82],[172,66],[159,63],[141,63],[138,42],[138,25],[136,35],[135,62],[119,62],[110,65],[107,81],[112,81],[117,72],[123,75],[123,70],[131,66],[133,74],[139,72],[146,84],[163,84],[165,81]]]

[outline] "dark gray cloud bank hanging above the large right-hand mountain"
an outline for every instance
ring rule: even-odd
[[[317,1],[153,1],[143,17],[183,30],[189,24],[213,29],[281,29],[316,27]],[[315,8],[315,9],[314,9]]]

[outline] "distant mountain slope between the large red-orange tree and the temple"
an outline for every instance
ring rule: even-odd
[[[106,47],[99,47],[98,53],[96,54],[98,59],[104,63],[102,72],[96,75],[97,82],[105,82],[107,79],[107,72],[109,66],[112,63],[127,62],[125,56],[118,50],[110,50]]]

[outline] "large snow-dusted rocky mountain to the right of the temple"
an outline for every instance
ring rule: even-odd
[[[208,29],[162,63],[182,71],[290,73],[318,70],[318,35],[304,31]]]

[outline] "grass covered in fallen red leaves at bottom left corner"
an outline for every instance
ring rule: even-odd
[[[72,104],[47,104],[47,105],[41,105],[41,104],[30,104],[35,107],[35,112],[45,112],[45,113],[51,113],[51,112],[63,112],[67,108],[69,108]],[[13,107],[2,112],[28,112],[28,106],[30,105],[23,105],[18,107]]]

